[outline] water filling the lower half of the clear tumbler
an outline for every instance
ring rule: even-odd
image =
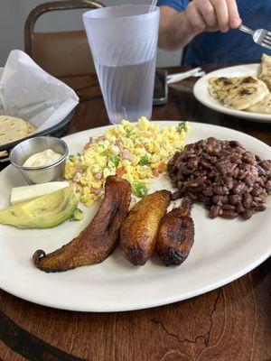
[[[152,116],[155,58],[119,67],[95,65],[111,123],[118,124],[124,118],[136,122],[140,116]]]

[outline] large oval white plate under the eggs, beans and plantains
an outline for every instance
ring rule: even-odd
[[[178,122],[160,122],[177,125]],[[263,159],[271,159],[271,148],[246,134],[214,125],[192,123],[186,143],[208,136],[238,140]],[[93,134],[107,127],[64,138],[70,153],[80,152]],[[0,173],[0,208],[8,206],[10,190],[23,179],[12,168]],[[153,190],[171,190],[164,175],[154,181]],[[86,208],[82,222],[67,221],[44,230],[19,230],[0,226],[0,287],[27,301],[65,310],[138,310],[181,301],[208,292],[248,273],[271,255],[271,197],[267,209],[248,221],[210,219],[200,205],[192,210],[196,236],[189,258],[180,267],[165,267],[154,257],[135,267],[117,249],[105,262],[65,273],[44,273],[36,269],[32,255],[37,249],[51,252],[66,244],[87,226],[98,205]]]

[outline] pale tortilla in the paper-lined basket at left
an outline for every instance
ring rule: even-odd
[[[0,116],[0,145],[22,139],[33,133],[34,127],[14,116]]]

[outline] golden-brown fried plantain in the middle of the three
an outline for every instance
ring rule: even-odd
[[[120,229],[120,248],[135,265],[144,265],[154,252],[161,218],[171,201],[171,192],[158,190],[135,204]]]

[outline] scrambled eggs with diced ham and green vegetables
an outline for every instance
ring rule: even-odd
[[[136,197],[144,197],[150,180],[166,171],[166,162],[182,150],[187,132],[184,122],[160,127],[145,117],[137,124],[123,120],[105,134],[90,137],[83,153],[70,156],[65,178],[78,185],[86,206],[103,195],[107,176],[115,174],[130,182]]]

